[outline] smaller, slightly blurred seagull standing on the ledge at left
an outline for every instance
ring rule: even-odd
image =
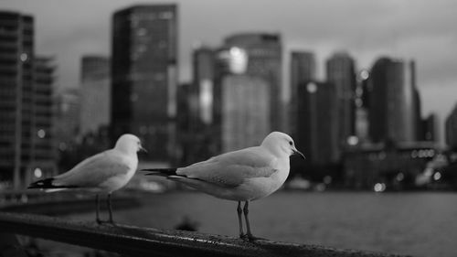
[[[41,188],[47,192],[71,188],[86,189],[95,192],[96,221],[99,218],[99,194],[107,193],[107,204],[112,220],[111,195],[130,181],[138,166],[136,153],[144,150],[141,141],[133,134],[122,134],[114,148],[98,155],[92,155],[74,166],[68,172],[56,177],[49,177],[30,184],[27,188]]]

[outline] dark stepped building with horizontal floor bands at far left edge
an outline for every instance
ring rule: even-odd
[[[36,57],[34,34],[33,16],[0,12],[0,179],[16,188],[57,170],[55,68],[52,59]]]

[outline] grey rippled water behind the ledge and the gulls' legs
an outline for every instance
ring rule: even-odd
[[[236,203],[197,192],[147,195],[117,222],[174,228],[185,216],[206,233],[238,235]],[[457,194],[282,191],[250,204],[253,233],[274,241],[345,249],[457,256]],[[115,207],[114,207],[115,208]],[[103,213],[106,214],[106,213]],[[93,213],[73,217],[93,220]]]

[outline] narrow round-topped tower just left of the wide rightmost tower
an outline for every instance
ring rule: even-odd
[[[347,53],[335,53],[326,61],[327,80],[335,85],[338,115],[338,142],[347,144],[356,134],[356,70],[354,59]]]

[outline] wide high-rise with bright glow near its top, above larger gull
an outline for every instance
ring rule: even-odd
[[[281,130],[281,51],[279,35],[262,33],[226,37],[217,50],[211,133],[218,151],[258,145],[259,138]]]

